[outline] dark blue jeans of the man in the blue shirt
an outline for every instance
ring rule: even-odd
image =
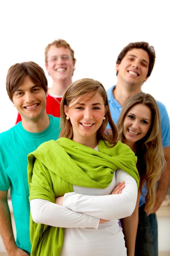
[[[156,214],[146,215],[145,205],[139,207],[139,223],[135,256],[158,256],[158,223]]]

